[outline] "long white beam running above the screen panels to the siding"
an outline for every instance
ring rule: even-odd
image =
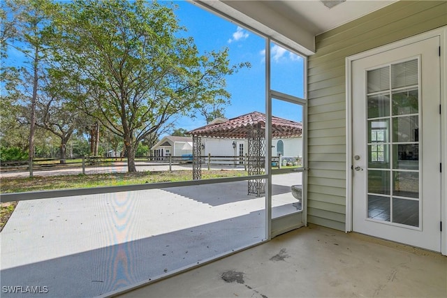
[[[314,34],[274,12],[262,1],[190,1],[300,54],[305,56],[315,54]]]

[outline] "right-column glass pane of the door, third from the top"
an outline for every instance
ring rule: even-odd
[[[393,142],[418,142],[418,119],[418,116],[393,118]]]

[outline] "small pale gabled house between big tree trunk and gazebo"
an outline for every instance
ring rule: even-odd
[[[193,138],[166,135],[151,148],[152,156],[184,156],[193,154]]]

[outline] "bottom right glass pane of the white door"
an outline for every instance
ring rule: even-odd
[[[419,201],[393,199],[393,223],[419,226]]]

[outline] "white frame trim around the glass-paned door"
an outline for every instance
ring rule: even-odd
[[[404,47],[412,43],[418,43],[421,40],[439,36],[440,39],[440,70],[441,70],[441,253],[447,255],[447,26],[434,29],[417,36],[412,36],[395,43],[376,47],[372,50],[353,54],[346,57],[346,232],[353,230],[353,170],[352,170],[352,148],[353,148],[353,115],[352,115],[352,75],[353,61],[366,58],[381,52]]]

